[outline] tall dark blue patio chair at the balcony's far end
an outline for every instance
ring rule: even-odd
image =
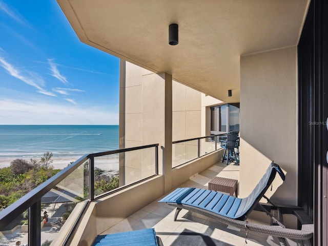
[[[237,141],[237,139],[238,139],[238,132],[235,132],[235,131],[228,132],[227,138],[220,139],[221,147],[224,149],[224,153],[222,156],[222,162],[224,161],[224,159],[227,159],[227,165],[228,165],[229,159],[236,160],[237,164],[239,165],[237,154],[235,152],[235,148],[239,147],[239,141]],[[227,153],[227,155],[226,155],[226,153]],[[238,154],[239,154],[239,151],[238,151]]]

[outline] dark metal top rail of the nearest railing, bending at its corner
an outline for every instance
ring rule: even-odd
[[[23,197],[19,198],[14,203],[10,204],[10,206],[0,211],[0,230],[3,230],[13,219],[15,219],[19,214],[23,213],[29,207],[31,207],[36,201],[40,200],[48,191],[54,188],[61,180],[66,178],[79,166],[83,165],[83,163],[85,163],[85,161],[87,161],[89,158],[122,153],[122,152],[133,151],[133,150],[146,149],[151,147],[158,147],[158,144],[99,152],[99,153],[91,153],[82,156],[78,160],[74,161],[71,165],[64,168],[59,173],[49,178],[47,181],[43,182],[41,185],[30,191]]]

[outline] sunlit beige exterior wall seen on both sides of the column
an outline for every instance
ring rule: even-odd
[[[200,92],[171,79],[168,84],[172,84],[172,95],[166,96],[165,76],[124,60],[121,60],[120,67],[120,148],[156,143],[165,146],[169,130],[173,141],[201,136]],[[165,102],[166,99],[168,101]],[[172,110],[166,113],[169,103]],[[172,117],[170,126],[165,124],[168,115]],[[197,141],[174,144],[173,166],[197,157],[197,150]],[[149,154],[142,151],[120,154],[120,185],[154,172],[153,159],[145,162],[147,156]],[[172,163],[169,166],[172,168]]]

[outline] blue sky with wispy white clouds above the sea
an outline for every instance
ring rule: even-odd
[[[0,125],[118,125],[119,59],[55,1],[0,0]]]

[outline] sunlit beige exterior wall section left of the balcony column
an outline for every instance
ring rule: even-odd
[[[165,75],[155,74],[124,60],[121,60],[120,67],[119,148],[157,143],[165,146]],[[120,154],[120,185],[155,173],[155,156],[149,151]],[[153,154],[154,151],[151,151]]]

